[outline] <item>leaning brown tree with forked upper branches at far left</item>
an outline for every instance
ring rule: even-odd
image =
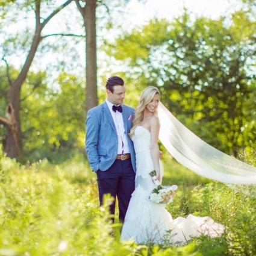
[[[46,1],[47,2],[47,1]],[[36,54],[37,48],[41,40],[46,37],[42,36],[42,30],[45,28],[49,20],[52,19],[57,13],[59,13],[64,7],[70,4],[72,0],[67,0],[59,7],[55,8],[47,17],[42,16],[42,4],[46,3],[41,0],[25,1],[23,8],[32,8],[35,14],[35,31],[33,40],[31,42],[30,50],[28,51],[27,58],[23,64],[19,75],[12,82],[10,82],[10,90],[8,93],[9,102],[7,105],[8,119],[0,117],[0,123],[7,127],[7,142],[5,145],[5,152],[9,157],[18,157],[22,151],[22,131],[20,124],[20,89],[22,87],[25,78],[27,77],[28,70],[33,62],[33,58]],[[48,1],[49,2],[49,1]],[[8,4],[8,3],[7,3]],[[4,6],[5,7],[5,6]],[[3,57],[4,60],[4,57]],[[6,62],[7,63],[7,62]],[[7,63],[8,73],[8,63]]]

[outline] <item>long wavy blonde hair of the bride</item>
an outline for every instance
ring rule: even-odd
[[[152,101],[152,99],[156,94],[160,95],[160,92],[155,86],[149,86],[143,90],[142,95],[140,95],[139,105],[135,109],[133,127],[131,128],[131,131],[129,134],[130,137],[133,136],[136,127],[140,125],[140,123],[142,122],[146,105],[148,105]]]

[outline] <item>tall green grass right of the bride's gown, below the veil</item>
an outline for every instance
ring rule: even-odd
[[[242,160],[256,166],[254,150],[245,151]],[[225,186],[202,178],[175,160],[165,158],[164,184],[179,186],[167,209],[173,218],[210,216],[226,226],[217,239],[194,239],[202,255],[256,255],[256,187]],[[243,192],[243,193],[242,193]],[[248,192],[248,193],[246,193]]]

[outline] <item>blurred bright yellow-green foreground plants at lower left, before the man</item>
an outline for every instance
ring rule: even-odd
[[[83,251],[89,255],[94,251],[102,255],[113,248],[113,238],[107,236],[111,230],[107,203],[95,207],[92,187],[70,184],[61,170],[45,172],[41,164],[17,169],[8,158],[2,158],[1,164],[6,180],[1,184],[2,252],[76,255]]]

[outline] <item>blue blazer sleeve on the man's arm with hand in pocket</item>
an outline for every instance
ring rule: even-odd
[[[86,119],[86,154],[90,166],[94,172],[99,169],[99,154],[98,154],[98,140],[99,140],[99,120],[95,113],[89,110]]]

